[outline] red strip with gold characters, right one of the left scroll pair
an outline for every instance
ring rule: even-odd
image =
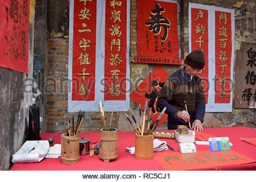
[[[126,100],[126,1],[106,1],[104,100]]]

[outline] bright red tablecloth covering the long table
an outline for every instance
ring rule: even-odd
[[[165,130],[166,132],[168,130]],[[171,131],[169,131],[171,132]],[[224,166],[210,166],[204,168],[191,167],[189,170],[256,170],[256,146],[243,142],[240,138],[256,138],[256,130],[248,127],[216,127],[206,128],[204,133],[213,135],[214,137],[229,137],[230,142],[233,144],[231,150],[253,159],[254,162],[247,164],[231,165],[225,164]],[[88,138],[90,142],[100,143],[100,132],[94,133],[80,133],[80,138]],[[45,133],[41,134],[42,140],[53,138],[55,143],[60,143],[60,133]],[[179,144],[173,139],[160,139],[166,140],[168,144],[179,151]],[[133,147],[135,144],[135,132],[118,132],[118,157],[115,160],[110,160],[109,163],[101,160],[98,155],[90,157],[89,155],[80,156],[80,162],[72,165],[61,164],[61,159],[45,158],[39,163],[16,163],[10,170],[98,170],[98,171],[163,171],[163,167],[157,160],[159,155],[175,154],[173,151],[154,152],[153,159],[139,160],[129,152],[125,152],[126,147]],[[92,146],[92,144],[90,144]],[[197,146],[197,154],[200,151],[209,150],[209,146]],[[177,153],[176,153],[177,154]]]

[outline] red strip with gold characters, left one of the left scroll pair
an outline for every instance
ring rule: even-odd
[[[73,17],[72,100],[93,101],[96,67],[97,1],[75,1]]]

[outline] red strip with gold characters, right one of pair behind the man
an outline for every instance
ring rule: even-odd
[[[231,92],[231,14],[215,11],[216,103],[229,103]]]

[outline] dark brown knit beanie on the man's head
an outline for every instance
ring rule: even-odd
[[[185,63],[187,63],[191,67],[203,69],[205,64],[203,51],[201,51],[201,49],[196,49],[195,51],[192,51],[191,53],[189,53],[189,55],[187,55]]]

